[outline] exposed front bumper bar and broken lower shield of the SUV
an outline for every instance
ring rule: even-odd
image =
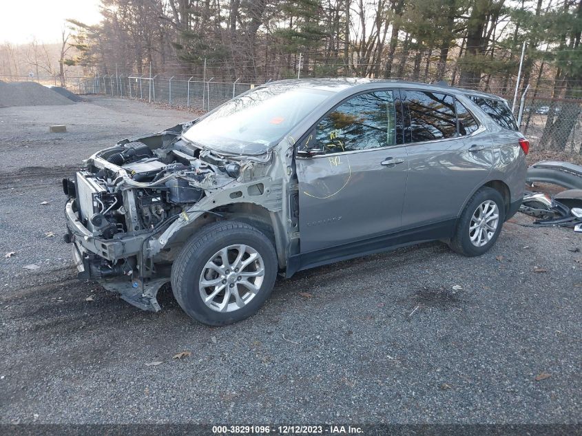
[[[79,221],[72,209],[72,201],[67,202],[65,216],[70,232],[69,241],[72,242],[72,258],[81,280],[96,280],[107,291],[120,294],[123,300],[145,311],[158,312],[161,310],[156,295],[164,284],[170,281],[169,277],[152,279],[133,279],[128,276],[116,278],[98,278],[92,276],[91,261],[95,256],[107,260],[118,260],[136,253],[127,251],[127,244],[121,241],[100,240]],[[132,238],[136,240],[137,238]],[[137,239],[141,245],[142,238]],[[134,242],[132,245],[136,245]]]

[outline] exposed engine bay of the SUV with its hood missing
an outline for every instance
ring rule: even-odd
[[[257,165],[264,167],[248,158],[217,156],[177,135],[165,136],[156,148],[131,141],[98,152],[94,158],[110,165],[98,167],[92,158],[74,179],[63,180],[65,193],[77,199],[82,224],[94,236],[111,239],[118,233],[154,229],[196,204],[205,191],[256,177]],[[134,210],[127,208],[127,191]]]

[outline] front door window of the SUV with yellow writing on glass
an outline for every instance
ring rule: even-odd
[[[402,130],[397,129],[393,92],[368,92],[327,114],[315,127],[317,145],[312,147],[324,154],[374,149],[400,143],[398,136]]]

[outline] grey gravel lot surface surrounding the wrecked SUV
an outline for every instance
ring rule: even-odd
[[[479,258],[435,242],[304,271],[222,328],[169,289],[147,313],[76,280],[61,177],[190,117],[101,98],[0,110],[0,253],[15,252],[0,258],[0,422],[581,421],[582,238],[521,214]]]

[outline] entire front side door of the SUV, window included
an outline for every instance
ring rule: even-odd
[[[295,160],[301,253],[401,227],[408,157],[400,106],[393,91],[353,96],[301,141]]]

